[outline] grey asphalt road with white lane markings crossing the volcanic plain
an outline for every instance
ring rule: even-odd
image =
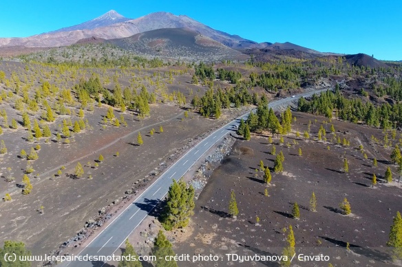
[[[277,100],[268,104],[270,108],[276,108],[284,104],[298,100],[300,97],[308,97],[313,93],[320,93],[328,89],[314,91],[309,93],[303,93],[295,95],[294,97],[287,97],[282,100]],[[242,115],[237,119],[229,122],[215,130],[208,137],[191,148],[189,152],[184,154],[176,163],[174,163],[169,169],[162,174],[152,185],[150,185],[140,196],[134,200],[119,216],[107,225],[103,231],[100,231],[98,235],[90,242],[87,247],[81,251],[80,256],[110,256],[118,250],[118,248],[125,242],[127,237],[138,227],[138,225],[144,220],[148,214],[154,209],[158,202],[162,200],[173,181],[176,181],[182,177],[200,158],[203,156],[215,143],[220,141],[222,137],[233,132],[234,126],[240,123],[240,119],[247,119],[248,114]],[[120,255],[120,251],[116,255]],[[77,266],[77,267],[94,267],[105,265],[103,260],[87,260],[83,262],[65,262],[63,266]]]

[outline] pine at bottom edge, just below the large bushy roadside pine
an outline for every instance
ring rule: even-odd
[[[169,240],[163,234],[162,230],[159,231],[154,241],[154,248],[152,254],[156,256],[156,262],[153,262],[155,267],[178,267],[176,261],[167,261],[167,256],[174,256],[173,248]]]

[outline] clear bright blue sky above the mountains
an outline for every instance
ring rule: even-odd
[[[23,37],[76,25],[109,10],[136,19],[185,14],[216,30],[257,42],[286,41],[318,51],[402,60],[402,1],[6,1],[0,37]]]

